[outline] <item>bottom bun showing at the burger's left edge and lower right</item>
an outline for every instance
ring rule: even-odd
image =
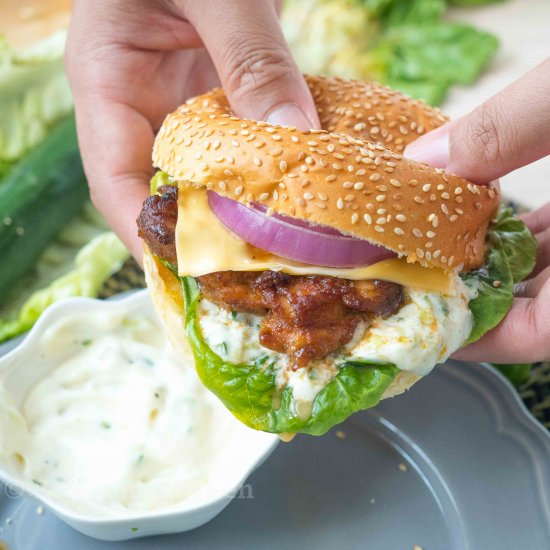
[[[174,275],[155,258],[146,246],[144,248],[143,268],[155,310],[165,326],[166,334],[172,345],[183,353],[186,359],[193,362],[193,354],[185,335],[182,318],[181,288]],[[384,392],[382,399],[407,391],[420,378],[410,372],[399,372]]]

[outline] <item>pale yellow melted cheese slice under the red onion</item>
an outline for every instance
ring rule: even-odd
[[[394,258],[367,267],[334,268],[302,264],[256,248],[230,231],[208,206],[203,188],[181,186],[178,193],[176,252],[179,275],[198,277],[215,271],[283,271],[290,275],[327,275],[351,280],[380,279],[422,290],[453,294],[453,278]]]

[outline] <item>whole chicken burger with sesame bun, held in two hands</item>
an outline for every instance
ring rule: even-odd
[[[306,77],[321,130],[167,116],[137,220],[167,333],[257,430],[319,435],[410,388],[505,316],[536,245],[476,185],[408,160],[446,121],[376,83]]]

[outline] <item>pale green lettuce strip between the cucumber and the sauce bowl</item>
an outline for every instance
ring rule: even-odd
[[[74,269],[31,294],[17,318],[0,320],[0,342],[29,330],[44,310],[58,300],[70,296],[97,296],[103,283],[121,268],[129,256],[114,233],[97,236],[77,254]]]

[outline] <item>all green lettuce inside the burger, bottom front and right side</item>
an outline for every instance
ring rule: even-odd
[[[464,344],[477,340],[504,318],[512,305],[514,283],[531,272],[535,255],[536,242],[529,230],[510,209],[501,208],[487,233],[484,265],[461,275],[472,294],[473,326]],[[200,379],[251,428],[321,435],[351,414],[377,405],[401,373],[393,364],[341,361],[336,374],[304,410],[294,399],[292,387],[278,383],[269,354],[249,363],[232,363],[222,358],[227,350],[207,343],[199,323],[201,294],[196,280],[178,277],[173,266],[162,263],[179,280],[185,331]]]

